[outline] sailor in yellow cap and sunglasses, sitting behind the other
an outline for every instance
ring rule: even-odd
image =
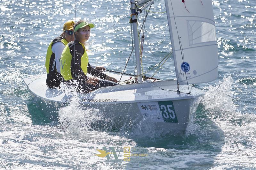
[[[68,42],[74,41],[74,25],[75,22],[72,20],[66,22],[63,26],[63,33],[56,37],[47,48],[45,67],[47,71],[46,85],[49,88],[60,88],[62,82],[60,56]]]

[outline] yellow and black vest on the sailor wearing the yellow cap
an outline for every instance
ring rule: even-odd
[[[62,42],[65,46],[68,44],[68,41],[65,40],[62,36],[56,37],[48,46],[47,48],[47,53],[46,53],[46,60],[45,60],[45,67],[46,67],[46,72],[49,74],[50,72],[55,72],[57,71],[56,69],[56,59],[55,59],[55,54],[52,52],[52,46],[56,42]]]

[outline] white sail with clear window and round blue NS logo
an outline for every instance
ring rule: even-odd
[[[218,49],[211,0],[165,0],[174,65],[180,85],[218,77]]]

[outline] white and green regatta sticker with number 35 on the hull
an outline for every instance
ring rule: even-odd
[[[138,107],[151,122],[178,123],[172,101],[143,102]]]

